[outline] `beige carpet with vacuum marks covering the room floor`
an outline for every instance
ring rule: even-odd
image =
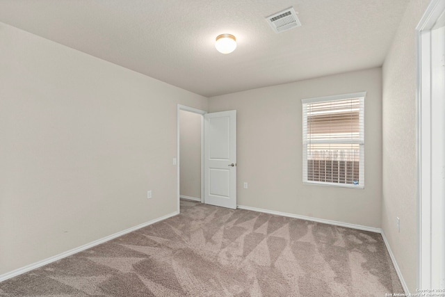
[[[0,283],[0,296],[385,296],[380,234],[181,201],[181,214]]]

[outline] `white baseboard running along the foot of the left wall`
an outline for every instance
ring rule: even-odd
[[[26,266],[24,266],[22,268],[15,269],[14,271],[10,271],[8,273],[4,273],[4,274],[0,275],[0,282],[3,282],[3,280],[8,280],[9,278],[14,278],[17,275],[20,275],[22,273],[26,273],[28,271],[31,271],[31,270],[33,270],[35,268],[39,268],[41,266],[50,264],[51,262],[55,262],[57,260],[63,259],[65,257],[68,257],[70,255],[74,255],[76,252],[81,252],[82,250],[87,250],[88,248],[92,248],[93,246],[97,246],[97,245],[99,245],[101,243],[104,243],[106,241],[110,241],[111,239],[115,239],[116,237],[122,236],[124,234],[129,233],[129,232],[133,232],[133,231],[138,230],[140,228],[147,227],[148,225],[152,225],[152,224],[157,223],[157,222],[159,222],[161,220],[165,220],[166,218],[170,218],[172,216],[176,216],[177,214],[179,214],[179,212],[175,211],[175,212],[173,212],[171,214],[167,214],[165,216],[161,216],[161,218],[155,218],[154,220],[150,220],[149,222],[142,223],[140,225],[131,227],[131,228],[127,229],[127,230],[123,230],[121,232],[108,235],[108,236],[106,236],[106,237],[104,237],[102,239],[97,239],[97,240],[92,241],[90,243],[87,243],[87,244],[85,244],[83,246],[79,246],[78,248],[73,248],[72,250],[67,250],[66,252],[62,252],[61,254],[55,255],[53,257],[49,257],[49,258],[44,259],[42,261],[35,262],[33,264],[26,265]]]

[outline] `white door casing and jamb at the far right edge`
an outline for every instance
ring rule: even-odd
[[[419,289],[445,289],[445,0],[416,28]]]

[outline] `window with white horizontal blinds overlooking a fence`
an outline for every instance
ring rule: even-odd
[[[364,97],[303,99],[303,182],[364,188]]]

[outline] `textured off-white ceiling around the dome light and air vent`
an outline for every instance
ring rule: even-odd
[[[0,0],[0,22],[211,97],[380,66],[407,2]],[[274,33],[264,18],[291,6],[302,26]]]

